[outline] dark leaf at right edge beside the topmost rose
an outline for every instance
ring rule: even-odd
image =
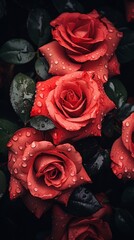
[[[134,59],[134,30],[124,29],[116,55],[120,63],[127,63]]]

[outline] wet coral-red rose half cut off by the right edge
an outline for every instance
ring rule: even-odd
[[[110,156],[119,179],[134,179],[134,113],[122,122],[122,135],[113,143]]]

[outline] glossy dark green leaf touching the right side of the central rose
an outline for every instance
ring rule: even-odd
[[[108,97],[119,108],[127,100],[127,90],[117,77],[113,77],[105,83],[104,89]]]

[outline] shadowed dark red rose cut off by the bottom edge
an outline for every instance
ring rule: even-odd
[[[110,205],[104,204],[93,215],[75,217],[64,212],[58,205],[54,205],[52,231],[47,240],[111,240],[111,229],[106,221],[106,217],[110,217],[111,213]]]

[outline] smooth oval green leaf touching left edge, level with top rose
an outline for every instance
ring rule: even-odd
[[[34,49],[25,39],[11,39],[0,48],[0,58],[7,63],[24,64],[34,57]]]

